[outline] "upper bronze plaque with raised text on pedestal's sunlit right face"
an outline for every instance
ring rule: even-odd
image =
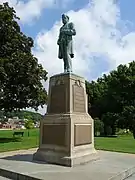
[[[84,88],[74,85],[73,92],[74,92],[74,94],[73,94],[74,112],[85,112]]]

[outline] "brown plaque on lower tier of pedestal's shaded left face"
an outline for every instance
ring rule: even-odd
[[[66,146],[66,124],[43,125],[42,144]]]

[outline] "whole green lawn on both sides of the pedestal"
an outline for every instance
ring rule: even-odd
[[[13,130],[0,131],[0,152],[36,148],[39,144],[39,129],[24,130],[23,137],[13,137]],[[98,150],[135,154],[135,140],[132,135],[120,135],[117,138],[95,137]]]

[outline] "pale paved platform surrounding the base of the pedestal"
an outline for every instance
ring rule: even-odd
[[[18,173],[23,179],[24,176],[30,176],[47,180],[116,180],[112,178],[116,176],[117,180],[123,180],[135,172],[135,155],[132,154],[98,151],[99,160],[69,168],[33,162],[35,150],[1,153],[0,169],[14,172],[11,175]]]

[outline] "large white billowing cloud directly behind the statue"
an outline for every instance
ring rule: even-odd
[[[121,20],[120,7],[113,0],[93,0],[83,9],[67,14],[77,31],[72,61],[74,73],[87,80],[96,79],[119,64],[134,59],[135,32],[130,32],[128,22]],[[35,39],[34,54],[49,76],[63,71],[56,44],[60,25],[61,21],[56,22],[49,31],[40,32]]]

